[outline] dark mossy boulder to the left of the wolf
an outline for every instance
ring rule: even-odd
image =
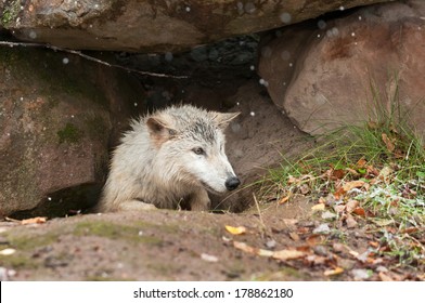
[[[65,215],[93,205],[111,130],[128,117],[130,84],[118,77],[127,73],[9,48],[0,49],[0,218]]]

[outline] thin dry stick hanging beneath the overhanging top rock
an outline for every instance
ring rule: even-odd
[[[127,71],[140,74],[140,75],[143,75],[143,76],[160,77],[160,78],[175,78],[175,79],[185,79],[185,78],[188,78],[188,76],[175,76],[175,75],[157,74],[157,73],[138,70],[138,69],[134,69],[134,68],[129,68],[129,67],[125,67],[125,66],[121,66],[121,65],[112,64],[112,63],[108,63],[108,62],[105,62],[105,61],[101,61],[101,60],[99,60],[96,57],[92,57],[92,56],[86,55],[86,54],[81,53],[80,51],[74,51],[74,50],[69,50],[69,49],[57,48],[57,47],[50,45],[50,44],[0,41],[0,45],[10,47],[10,48],[13,48],[13,47],[46,48],[46,49],[50,49],[50,50],[53,50],[53,51],[60,51],[60,52],[65,52],[65,53],[78,55],[78,56],[83,57],[83,58],[86,58],[88,61],[92,61],[92,62],[105,65],[107,67],[120,68],[120,69],[124,69],[124,70],[127,70]]]

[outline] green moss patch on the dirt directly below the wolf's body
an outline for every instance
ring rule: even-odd
[[[149,245],[162,245],[163,240],[153,236],[140,236],[137,226],[118,225],[110,222],[94,221],[82,222],[75,226],[76,236],[98,236],[110,239],[121,239],[129,242],[141,242]]]

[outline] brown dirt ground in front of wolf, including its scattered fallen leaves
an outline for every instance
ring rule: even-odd
[[[296,198],[241,214],[153,210],[77,215],[42,224],[1,222],[0,278],[417,279],[414,269],[383,269],[382,259],[368,258],[371,236],[361,225],[324,230],[313,206]]]

